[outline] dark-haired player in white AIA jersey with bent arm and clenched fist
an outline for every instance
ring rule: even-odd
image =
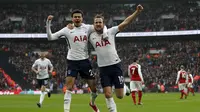
[[[93,25],[86,25],[82,23],[83,12],[81,10],[74,10],[71,14],[72,22],[74,24],[73,29],[65,27],[56,33],[51,33],[50,23],[53,16],[47,18],[47,35],[49,40],[59,39],[64,36],[68,42],[68,55],[67,55],[67,72],[66,72],[66,85],[67,90],[64,95],[64,112],[70,111],[71,94],[75,78],[78,73],[80,76],[87,80],[87,83],[92,91],[91,101],[89,105],[95,112],[99,112],[99,109],[95,105],[95,99],[97,97],[96,82],[92,73],[92,67],[88,60],[88,35],[94,32]],[[104,27],[103,37],[107,37],[107,28]]]

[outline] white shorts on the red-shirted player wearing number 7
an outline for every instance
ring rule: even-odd
[[[142,82],[141,81],[131,81],[130,89],[132,91],[142,91]]]

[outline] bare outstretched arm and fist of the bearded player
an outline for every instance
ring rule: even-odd
[[[127,27],[137,17],[137,15],[140,14],[142,10],[143,7],[141,5],[138,5],[136,11],[130,16],[128,16],[121,24],[118,25],[119,31],[124,30],[125,27]]]

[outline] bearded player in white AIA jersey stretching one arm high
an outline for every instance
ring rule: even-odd
[[[108,38],[102,39],[104,17],[97,15],[94,18],[96,32],[90,35],[89,41],[97,53],[97,63],[100,67],[101,85],[103,87],[106,104],[109,112],[117,112],[116,104],[112,97],[112,85],[115,86],[116,96],[120,99],[124,96],[124,77],[121,69],[121,60],[115,47],[115,35],[124,30],[137,15],[143,10],[141,5],[127,17],[120,25],[108,29]]]

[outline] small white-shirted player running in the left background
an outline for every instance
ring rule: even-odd
[[[53,65],[51,64],[51,61],[45,57],[45,53],[42,52],[40,58],[32,65],[32,70],[37,74],[38,85],[41,88],[40,101],[37,103],[37,106],[40,108],[44,101],[45,92],[48,92],[48,97],[51,97],[51,91],[47,87],[49,75],[53,71]]]

